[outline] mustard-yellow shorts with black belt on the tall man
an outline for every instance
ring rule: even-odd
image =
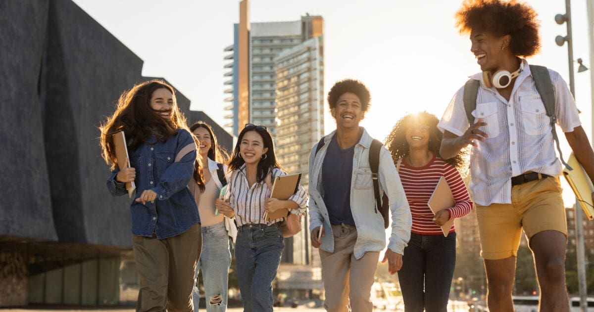
[[[511,204],[476,205],[481,256],[486,260],[517,256],[522,228],[528,237],[545,230],[567,237],[567,220],[558,177],[511,187]]]

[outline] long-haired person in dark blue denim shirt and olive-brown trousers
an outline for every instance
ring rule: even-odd
[[[204,190],[196,144],[175,99],[161,80],[135,85],[100,127],[103,158],[111,165],[113,196],[136,184],[130,205],[138,275],[137,311],[192,311],[194,269],[201,250],[200,217],[188,183]],[[113,135],[124,131],[129,167],[118,168]],[[200,193],[200,191],[198,193]]]

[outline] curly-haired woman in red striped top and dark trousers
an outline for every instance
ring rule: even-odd
[[[456,231],[452,224],[446,237],[441,225],[472,211],[458,171],[465,166],[466,150],[449,160],[440,157],[438,121],[427,112],[408,114],[386,138],[412,214],[410,241],[398,272],[406,312],[447,311],[456,266]],[[456,203],[434,215],[427,203],[441,177],[445,177]]]

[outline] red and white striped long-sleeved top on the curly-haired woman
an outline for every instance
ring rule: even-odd
[[[423,167],[412,167],[403,158],[398,173],[412,214],[412,233],[443,235],[441,228],[432,221],[434,215],[427,205],[442,176],[445,177],[456,201],[455,206],[448,208],[450,219],[464,217],[472,211],[472,200],[470,200],[462,176],[456,168],[443,159],[433,155],[431,161]],[[453,232],[454,225],[452,224],[450,233]]]

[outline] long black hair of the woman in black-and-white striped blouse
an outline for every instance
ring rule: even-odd
[[[229,161],[229,170],[239,169],[245,164],[244,158],[241,158],[241,154],[239,154],[239,147],[241,146],[241,140],[244,139],[244,135],[248,131],[255,131],[260,136],[262,136],[264,148],[268,148],[266,154],[263,154],[266,155],[264,156],[264,159],[260,159],[260,161],[258,161],[258,170],[256,172],[257,181],[262,182],[264,178],[266,178],[268,172],[270,172],[273,168],[282,169],[281,165],[276,161],[272,136],[264,126],[248,125],[243,130],[241,130],[237,138],[237,144],[235,144],[235,149],[233,149],[233,155]]]

